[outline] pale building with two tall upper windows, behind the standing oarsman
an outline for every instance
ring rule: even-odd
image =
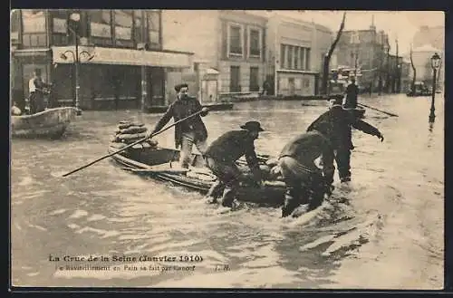
[[[246,11],[165,10],[162,20],[165,47],[194,53],[192,89],[201,101],[259,91],[265,80],[265,17]]]

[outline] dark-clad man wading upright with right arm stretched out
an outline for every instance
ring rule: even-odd
[[[307,129],[321,132],[331,142],[342,182],[351,181],[352,128],[384,140],[381,131],[361,120],[353,109],[344,108],[340,98],[331,100],[329,111],[314,120]]]

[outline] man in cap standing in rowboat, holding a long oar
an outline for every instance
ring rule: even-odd
[[[179,163],[182,168],[188,168],[193,145],[197,146],[201,154],[204,154],[207,148],[207,130],[201,117],[206,116],[208,110],[203,108],[196,98],[188,96],[188,84],[176,85],[175,91],[178,93],[177,100],[169,105],[169,109],[150,134],[161,130],[171,118],[176,122],[198,111],[202,111],[197,116],[182,121],[175,126],[175,146],[176,149],[179,146],[181,147]]]

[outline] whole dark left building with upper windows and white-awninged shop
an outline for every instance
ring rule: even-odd
[[[76,34],[69,28],[74,14]],[[192,55],[165,50],[161,27],[159,10],[14,10],[13,99],[24,101],[28,80],[40,68],[44,81],[53,83],[53,97],[71,105],[78,38],[82,109],[140,107],[141,98],[147,106],[163,104],[167,73],[190,68]],[[92,59],[88,61],[87,55]]]

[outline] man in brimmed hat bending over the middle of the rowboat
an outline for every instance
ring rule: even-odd
[[[248,121],[241,126],[242,130],[231,130],[214,140],[207,148],[205,159],[217,181],[209,189],[207,198],[212,203],[223,192],[222,206],[232,207],[242,174],[236,166],[236,160],[246,156],[248,167],[252,170],[256,186],[263,186],[262,173],[255,153],[255,139],[264,131],[258,121]]]

